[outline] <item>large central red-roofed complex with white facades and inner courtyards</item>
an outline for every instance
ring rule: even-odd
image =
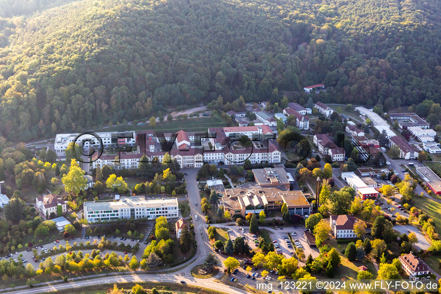
[[[252,140],[252,146],[243,148],[238,141],[243,135]],[[162,162],[168,153],[172,160],[177,160],[181,168],[201,167],[204,162],[210,164],[243,164],[249,159],[251,163],[280,163],[281,151],[275,135],[266,125],[252,127],[209,128],[208,134],[190,133],[180,130],[173,134],[137,134],[137,148],[133,152],[103,154],[95,152],[92,156],[93,167],[109,165],[117,169],[137,168],[145,154],[150,162]],[[212,149],[202,149],[202,142],[208,141]],[[168,148],[168,150],[163,148]]]

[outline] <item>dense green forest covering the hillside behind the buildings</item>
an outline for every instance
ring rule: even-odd
[[[318,82],[331,87],[314,97],[325,103],[441,102],[436,0],[29,2],[0,19],[0,135],[10,141],[219,95],[277,102],[274,88]]]

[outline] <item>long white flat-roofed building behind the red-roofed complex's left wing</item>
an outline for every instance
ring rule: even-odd
[[[135,132],[102,132],[93,134],[57,134],[55,137],[54,150],[57,156],[66,156],[66,148],[70,142],[75,141],[84,150],[89,150],[90,146],[95,149],[100,149],[101,147],[125,147],[125,146],[135,146],[136,137]],[[80,136],[81,135],[81,136]],[[101,145],[102,144],[102,145]]]

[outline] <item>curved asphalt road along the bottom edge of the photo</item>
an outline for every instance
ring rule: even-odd
[[[84,281],[77,281],[77,282],[71,282],[71,283],[64,283],[64,284],[58,284],[58,285],[52,285],[47,287],[40,287],[35,289],[25,289],[25,290],[18,290],[14,293],[17,294],[37,294],[37,293],[45,293],[45,292],[52,292],[52,291],[58,291],[58,290],[64,290],[64,289],[70,289],[70,288],[80,288],[80,287],[87,287],[92,285],[102,285],[102,284],[108,284],[108,287],[112,287],[113,283],[126,283],[126,282],[163,282],[163,283],[179,283],[179,281],[185,281],[189,285],[199,286],[199,287],[205,287],[213,290],[219,290],[225,293],[229,294],[247,294],[248,292],[236,289],[234,287],[230,287],[224,284],[216,283],[211,280],[206,279],[195,279],[193,277],[191,278],[181,278],[179,276],[176,276],[174,274],[167,274],[167,275],[123,275],[123,276],[108,276],[104,278],[98,278],[98,279],[90,279],[90,280],[84,280]],[[75,292],[75,291],[73,291]]]

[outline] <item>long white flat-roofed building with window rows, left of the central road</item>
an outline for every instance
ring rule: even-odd
[[[120,201],[84,202],[84,216],[88,222],[98,220],[168,219],[179,214],[178,198],[146,199],[144,196],[121,197]]]

